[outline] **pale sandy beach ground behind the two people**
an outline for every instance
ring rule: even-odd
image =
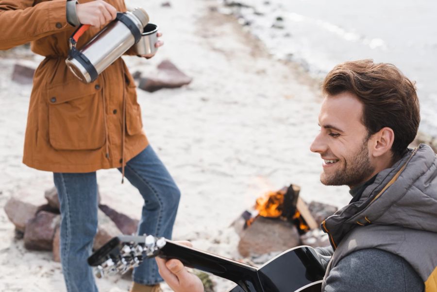
[[[170,60],[193,78],[179,89],[138,89],[144,131],[182,191],[174,239],[238,259],[230,224],[266,191],[293,183],[307,202],[348,203],[346,187],[319,182],[322,160],[309,151],[319,131],[317,81],[270,56],[235,18],[215,11],[215,0],[171,1],[171,7],[127,3],[144,6],[165,41],[150,60],[123,57],[131,72],[153,72]],[[43,204],[44,190],[53,186],[50,172],[21,162],[32,87],[11,81],[16,62],[0,59],[0,291],[65,291],[60,263],[50,252],[28,251],[14,240],[14,225],[3,211],[11,196]],[[139,219],[137,190],[120,184],[117,170],[97,173],[101,203]],[[214,279],[218,292],[233,286]],[[113,276],[97,285],[101,292],[127,291],[130,280]]]

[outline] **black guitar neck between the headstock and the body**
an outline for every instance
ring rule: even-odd
[[[246,292],[263,292],[259,284],[258,268],[251,265],[181,245],[172,240],[166,240],[166,245],[161,248],[158,257],[179,259],[187,267],[231,280]]]

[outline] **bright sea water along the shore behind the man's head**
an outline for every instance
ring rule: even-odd
[[[270,52],[315,76],[349,60],[396,65],[416,82],[420,130],[437,136],[437,1],[240,0],[232,7]]]

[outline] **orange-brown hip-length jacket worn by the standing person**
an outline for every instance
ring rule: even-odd
[[[123,0],[106,1],[126,11]],[[50,172],[121,167],[148,145],[134,80],[121,58],[90,84],[69,71],[68,38],[76,28],[67,23],[66,2],[0,0],[0,50],[31,42],[46,57],[34,74],[23,162]],[[89,29],[77,47],[98,31]]]

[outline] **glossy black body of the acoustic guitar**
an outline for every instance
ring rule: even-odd
[[[258,270],[265,292],[320,292],[324,273],[323,265],[308,246],[289,249]],[[229,292],[244,290],[235,286]]]

